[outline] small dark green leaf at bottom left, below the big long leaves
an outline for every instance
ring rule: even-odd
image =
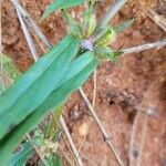
[[[29,158],[34,155],[34,149],[30,142],[22,144],[21,151],[10,158],[8,166],[25,166]]]

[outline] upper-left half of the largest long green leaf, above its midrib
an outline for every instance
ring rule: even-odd
[[[66,48],[71,38],[66,37],[48,54],[33,64],[13,85],[0,97],[0,114],[11,107],[15,101],[39,79],[56,56]],[[21,89],[20,89],[21,87]],[[19,90],[19,91],[18,91]],[[14,94],[14,95],[13,95]]]

